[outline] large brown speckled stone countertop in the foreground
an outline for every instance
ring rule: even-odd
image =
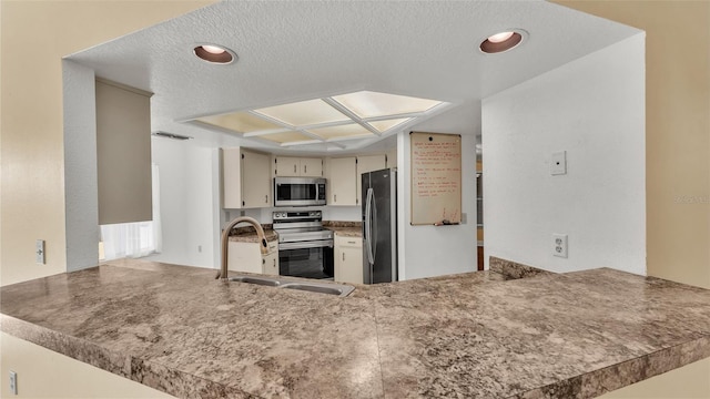
[[[592,398],[710,357],[710,290],[606,268],[509,278],[339,298],[119,260],[2,287],[0,320],[184,398]]]

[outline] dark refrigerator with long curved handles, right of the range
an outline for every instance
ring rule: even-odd
[[[363,279],[397,280],[397,171],[363,173]]]

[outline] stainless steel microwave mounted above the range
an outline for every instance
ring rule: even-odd
[[[274,206],[325,205],[325,178],[274,177]]]

